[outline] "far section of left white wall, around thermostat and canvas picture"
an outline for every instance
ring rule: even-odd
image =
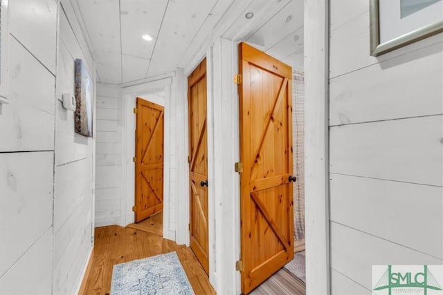
[[[74,294],[82,280],[93,245],[95,139],[74,132],[73,112],[63,108],[61,99],[64,93],[75,94],[75,59],[82,59],[91,75],[95,73],[95,68],[71,1],[61,1],[59,17],[55,88],[53,294]]]

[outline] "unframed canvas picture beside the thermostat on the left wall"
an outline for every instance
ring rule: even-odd
[[[75,59],[75,132],[92,137],[93,79],[82,59]]]

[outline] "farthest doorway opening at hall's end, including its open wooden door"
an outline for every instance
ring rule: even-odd
[[[163,236],[165,93],[136,97],[134,224],[129,227]]]

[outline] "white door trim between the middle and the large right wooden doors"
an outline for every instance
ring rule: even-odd
[[[210,238],[215,239],[210,244],[215,245],[211,283],[218,294],[239,294],[241,283],[240,273],[235,271],[240,254],[240,187],[239,174],[234,171],[234,163],[239,161],[239,99],[233,83],[233,75],[238,73],[237,47],[236,41],[219,37],[206,59],[208,171],[214,212]]]

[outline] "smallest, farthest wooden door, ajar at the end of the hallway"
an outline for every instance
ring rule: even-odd
[[[135,220],[163,210],[163,106],[137,97]]]

